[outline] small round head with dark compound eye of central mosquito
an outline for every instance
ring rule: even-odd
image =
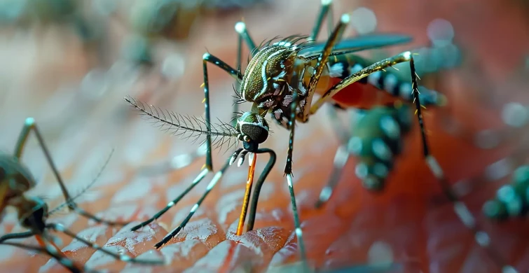
[[[245,112],[237,121],[236,129],[246,142],[261,144],[268,138],[268,123],[257,113]]]

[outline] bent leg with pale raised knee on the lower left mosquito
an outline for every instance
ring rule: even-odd
[[[48,150],[48,146],[46,146],[46,142],[44,141],[41,132],[39,131],[39,128],[36,127],[36,123],[34,118],[26,118],[24,127],[22,128],[22,131],[20,132],[20,135],[18,137],[17,144],[15,146],[15,158],[18,158],[20,160],[20,157],[22,156],[22,152],[24,151],[25,145],[27,143],[27,139],[29,137],[29,133],[31,131],[35,132],[36,139],[39,141],[39,145],[41,146],[41,150],[44,153],[44,156],[46,157],[46,160],[48,161],[48,165],[50,166],[53,175],[55,176],[55,179],[57,179],[57,182],[59,183],[59,186],[62,191],[62,195],[64,196],[64,200],[66,200],[68,209],[70,211],[75,211],[78,214],[81,214],[82,216],[85,216],[87,218],[90,218],[97,223],[104,223],[107,225],[127,225],[127,223],[123,222],[113,222],[113,221],[106,221],[102,218],[99,218],[97,216],[94,216],[88,211],[85,211],[77,206],[77,204],[74,202],[74,198],[71,197],[71,195],[68,193],[68,190],[66,186],[64,186],[64,181],[62,180],[62,176],[60,176],[59,171],[57,170],[57,167],[55,167],[55,163],[53,162],[53,159],[51,158],[50,151]]]

